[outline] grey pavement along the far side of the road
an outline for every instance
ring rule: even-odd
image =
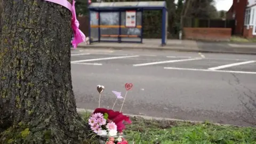
[[[134,39],[133,41],[138,41],[138,39]],[[86,43],[81,43],[78,46],[93,49],[148,49],[182,52],[256,54],[255,43],[202,42],[178,39],[168,39],[165,46],[161,46],[161,39],[143,39],[142,44],[100,42],[92,43],[90,45],[87,45]]]

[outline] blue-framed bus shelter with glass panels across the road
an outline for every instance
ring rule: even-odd
[[[91,3],[90,43],[142,43],[144,10],[162,11],[161,44],[166,45],[168,13],[165,1]]]

